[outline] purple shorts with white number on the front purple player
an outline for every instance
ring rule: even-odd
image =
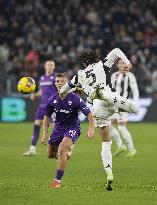
[[[64,128],[64,129],[56,129],[54,128],[48,144],[59,145],[64,137],[69,137],[73,143],[79,138],[81,132],[79,128]]]

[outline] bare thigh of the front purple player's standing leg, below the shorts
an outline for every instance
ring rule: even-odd
[[[72,139],[69,138],[68,136],[64,137],[61,143],[59,144],[58,152],[68,152],[72,145],[73,145]]]

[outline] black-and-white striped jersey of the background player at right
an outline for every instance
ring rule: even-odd
[[[111,81],[116,93],[125,98],[130,98],[132,93],[133,101],[136,104],[139,103],[139,90],[133,73],[127,72],[123,74],[117,71],[112,74]]]

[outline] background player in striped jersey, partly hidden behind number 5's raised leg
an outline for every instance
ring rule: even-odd
[[[136,105],[139,104],[139,90],[136,82],[136,78],[133,73],[131,73],[126,66],[125,62],[121,59],[117,63],[118,71],[113,73],[111,76],[112,87],[115,88],[116,92],[126,98],[130,98],[132,94],[133,101]],[[117,151],[113,155],[119,155],[123,151],[128,149],[127,157],[134,156],[137,151],[134,147],[131,133],[127,129],[128,113],[127,112],[118,112],[115,113],[112,117],[112,124],[118,123],[118,131],[115,127],[111,126],[111,136],[115,140],[117,145]],[[120,134],[119,134],[120,133]],[[124,140],[126,146],[123,144]]]

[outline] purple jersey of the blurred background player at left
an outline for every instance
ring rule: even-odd
[[[47,104],[48,99],[55,95],[57,90],[55,86],[55,76],[51,74],[49,76],[43,75],[40,77],[40,88],[41,88],[41,102],[40,104]]]

